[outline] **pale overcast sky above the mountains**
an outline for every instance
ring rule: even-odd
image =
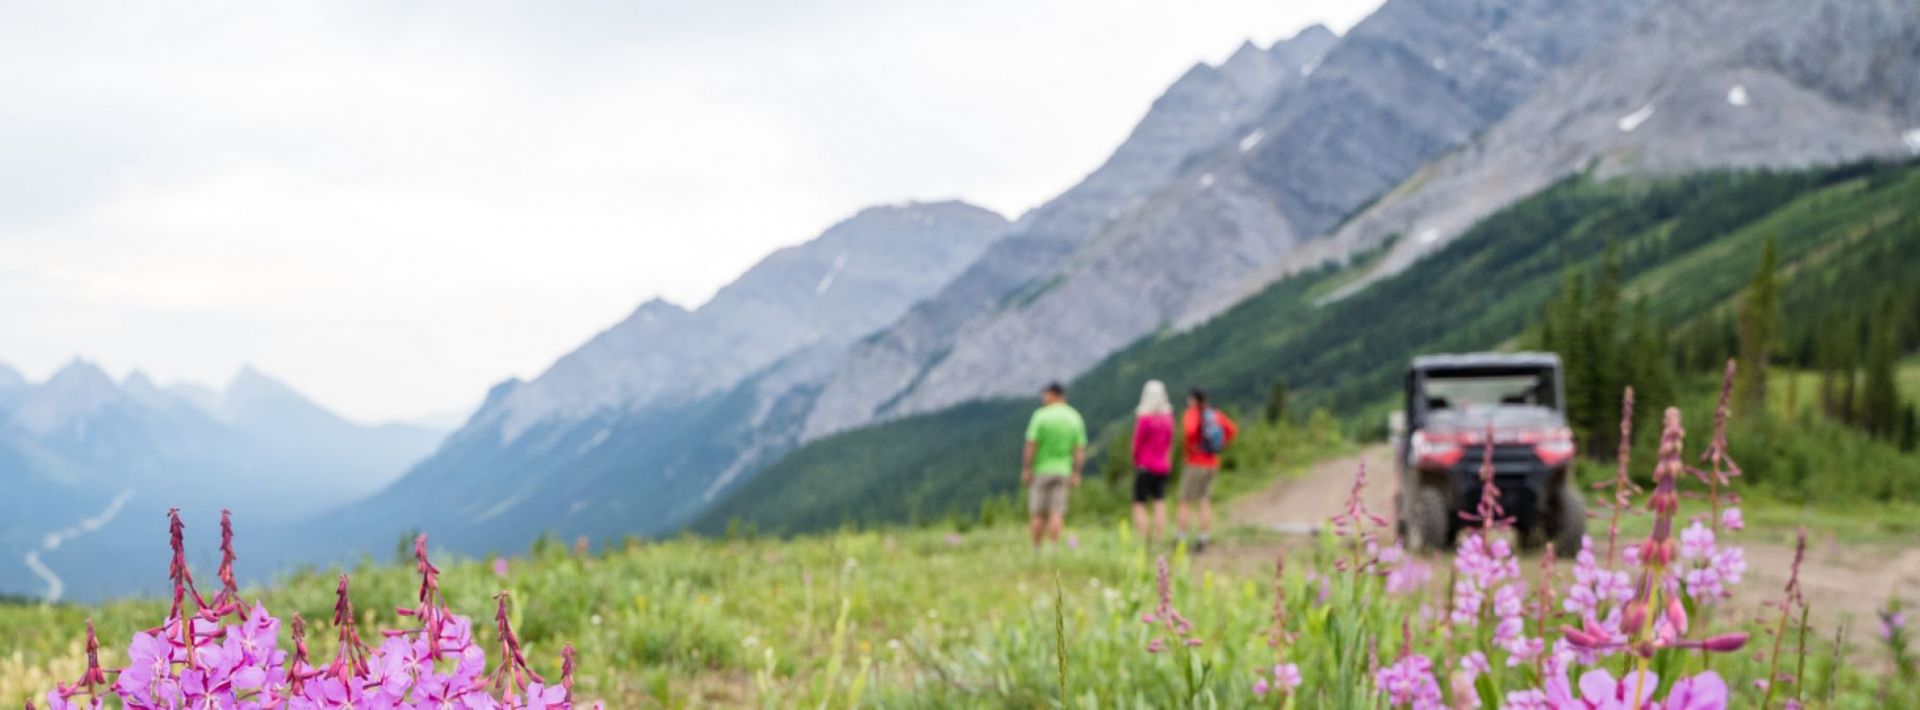
[[[1014,217],[1373,6],[0,0],[0,363],[470,407],[862,205]]]

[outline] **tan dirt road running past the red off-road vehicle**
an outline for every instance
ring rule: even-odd
[[[1367,507],[1392,518],[1394,472],[1388,447],[1369,447],[1354,457],[1313,466],[1302,478],[1284,478],[1263,491],[1240,497],[1223,510],[1227,526],[1258,528],[1288,535],[1309,535],[1327,518],[1346,507],[1354,489],[1354,472],[1367,466],[1363,499]],[[1605,522],[1590,526],[1605,533]],[[1741,614],[1759,612],[1761,603],[1780,599],[1793,566],[1793,545],[1763,533],[1741,535],[1747,553],[1747,578],[1736,587],[1734,608]],[[1252,568],[1271,564],[1271,545],[1223,545],[1210,564]],[[1832,627],[1851,618],[1849,635],[1864,637],[1878,629],[1874,616],[1893,593],[1907,599],[1920,595],[1920,545],[1841,545],[1830,535],[1812,532],[1807,558],[1801,564],[1801,587],[1822,626]]]

